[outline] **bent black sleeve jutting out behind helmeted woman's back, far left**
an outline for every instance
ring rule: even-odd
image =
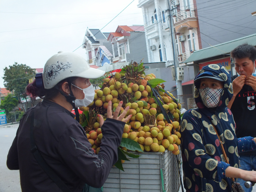
[[[19,170],[18,148],[17,148],[18,131],[19,131],[19,128],[17,130],[16,136],[12,142],[12,146],[9,149],[9,152],[7,155],[6,165],[10,170]]]

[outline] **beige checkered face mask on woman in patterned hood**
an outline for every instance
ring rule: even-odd
[[[212,88],[206,87],[204,89],[199,89],[199,93],[203,101],[203,104],[208,108],[218,106],[219,100],[221,99],[222,91],[223,91],[223,88],[212,89]]]

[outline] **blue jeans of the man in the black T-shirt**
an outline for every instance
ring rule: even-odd
[[[253,155],[253,156],[248,156],[248,155],[240,155],[239,156],[239,160],[240,160],[240,165],[239,165],[239,168],[240,169],[243,169],[243,170],[247,170],[247,171],[252,171],[252,170],[256,170],[256,156]],[[245,181],[238,178],[238,180],[236,181],[238,183],[241,184],[241,186],[243,187],[244,191],[245,192],[251,192],[251,190],[253,189],[253,187],[247,189],[245,186],[244,186],[244,183]]]

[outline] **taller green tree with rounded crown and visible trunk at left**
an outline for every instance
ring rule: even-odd
[[[9,69],[5,67],[4,73],[3,79],[6,89],[9,91],[14,91],[14,95],[18,97],[19,101],[21,97],[26,99],[26,86],[29,84],[29,78],[32,78],[35,74],[35,69],[15,62],[15,64],[9,66]],[[23,110],[26,111],[27,103],[25,108],[23,105],[21,106]]]

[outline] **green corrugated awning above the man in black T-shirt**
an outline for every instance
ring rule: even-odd
[[[186,61],[184,61],[184,63],[200,61],[202,59],[207,59],[219,55],[226,55],[229,54],[237,46],[245,43],[256,46],[256,34],[248,35],[233,41],[228,41],[226,43],[221,43],[212,47],[207,47],[205,49],[195,51],[192,53],[192,55],[189,56],[189,58],[186,59]]]

